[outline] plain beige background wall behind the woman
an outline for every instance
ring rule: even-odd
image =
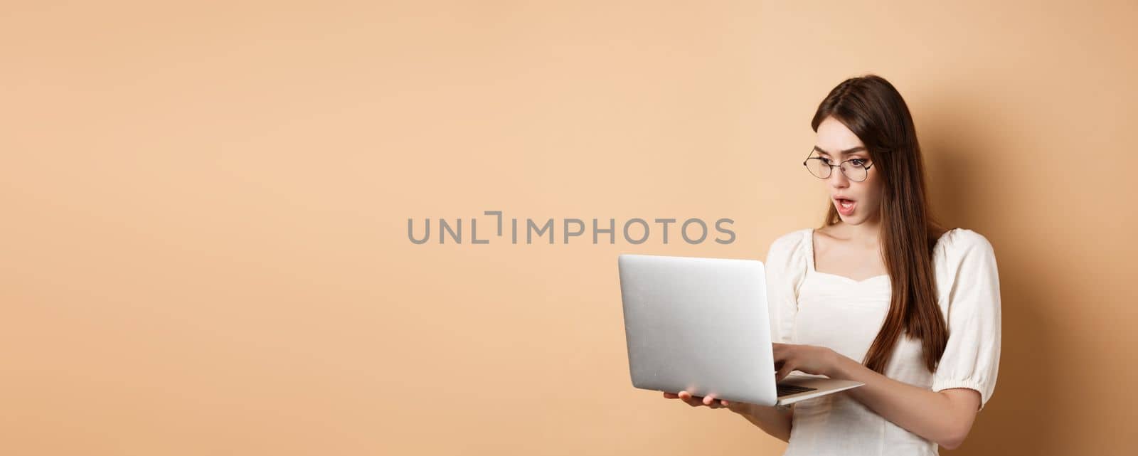
[[[946,453],[1132,454],[1138,5],[785,3],[3,2],[0,454],[781,454],[632,388],[616,256],[817,225],[810,116],[869,72],[999,262]],[[406,238],[484,210],[737,238]]]

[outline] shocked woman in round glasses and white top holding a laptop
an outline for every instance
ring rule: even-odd
[[[913,118],[884,78],[842,82],[810,126],[817,140],[805,165],[831,198],[822,227],[785,234],[767,255],[775,376],[800,371],[865,385],[790,409],[663,396],[739,413],[787,441],[784,455],[956,448],[999,368],[992,247],[932,221]]]

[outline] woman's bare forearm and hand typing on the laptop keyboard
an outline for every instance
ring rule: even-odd
[[[838,353],[833,353],[830,364],[827,376],[865,383],[842,393],[909,432],[955,449],[972,429],[980,407],[980,392],[975,390],[931,391],[879,374]]]

